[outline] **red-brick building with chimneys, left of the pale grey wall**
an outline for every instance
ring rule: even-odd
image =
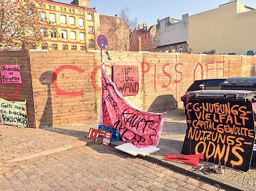
[[[130,32],[131,51],[149,51],[159,45],[158,24],[150,27],[143,23]]]

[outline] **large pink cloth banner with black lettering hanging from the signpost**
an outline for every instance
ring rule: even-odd
[[[144,112],[130,105],[104,69],[100,109],[101,124],[119,130],[125,143],[132,143],[138,148],[158,145],[163,127],[163,114]]]

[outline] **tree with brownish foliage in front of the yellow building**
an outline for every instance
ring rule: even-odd
[[[0,0],[0,43],[5,48],[29,48],[55,29],[37,7],[38,0]]]

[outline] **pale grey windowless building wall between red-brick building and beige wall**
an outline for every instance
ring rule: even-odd
[[[188,14],[182,15],[182,20],[170,17],[160,20],[160,46],[188,41]]]

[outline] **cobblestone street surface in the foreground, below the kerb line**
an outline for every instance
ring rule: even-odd
[[[104,146],[90,145],[5,164],[4,191],[218,191],[195,179]]]

